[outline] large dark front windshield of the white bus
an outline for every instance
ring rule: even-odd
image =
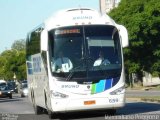
[[[122,55],[118,30],[110,25],[70,26],[49,32],[52,75],[61,80],[119,77]]]

